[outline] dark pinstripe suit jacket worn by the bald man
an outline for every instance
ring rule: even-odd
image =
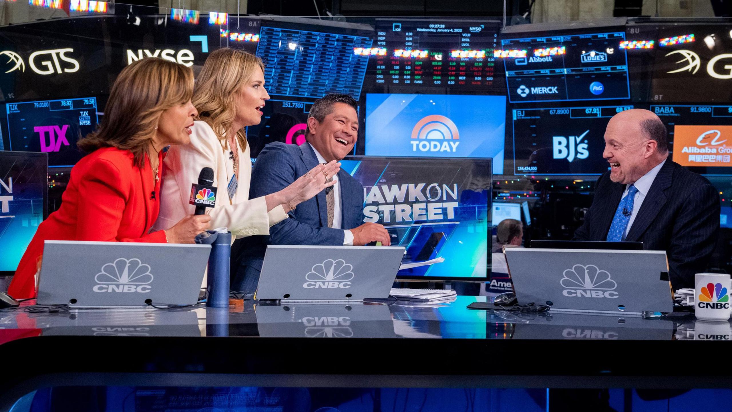
[[[597,180],[594,199],[575,240],[605,240],[625,185],[613,183],[610,172]],[[720,229],[720,198],[709,180],[668,159],[661,166],[628,242],[668,256],[673,289],[694,287],[694,273],[706,270]]]

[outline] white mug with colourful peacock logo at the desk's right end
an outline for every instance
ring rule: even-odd
[[[722,273],[697,273],[695,286],[696,318],[712,322],[729,320],[730,276]]]

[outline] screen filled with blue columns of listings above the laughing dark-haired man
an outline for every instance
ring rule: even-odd
[[[368,56],[354,50],[370,48],[373,40],[322,30],[261,27],[257,56],[270,95],[317,99],[343,93],[358,100]]]

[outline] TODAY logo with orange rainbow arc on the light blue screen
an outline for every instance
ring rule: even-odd
[[[456,152],[460,141],[458,126],[452,120],[439,114],[423,117],[412,129],[412,151]]]

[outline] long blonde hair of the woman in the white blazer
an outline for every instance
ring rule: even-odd
[[[226,139],[236,118],[236,92],[251,81],[256,69],[264,73],[264,63],[253,54],[233,48],[220,48],[209,54],[195,81],[193,106],[198,119],[208,123],[219,140]],[[244,129],[236,130],[242,150],[247,147]],[[226,143],[228,144],[228,143]]]

